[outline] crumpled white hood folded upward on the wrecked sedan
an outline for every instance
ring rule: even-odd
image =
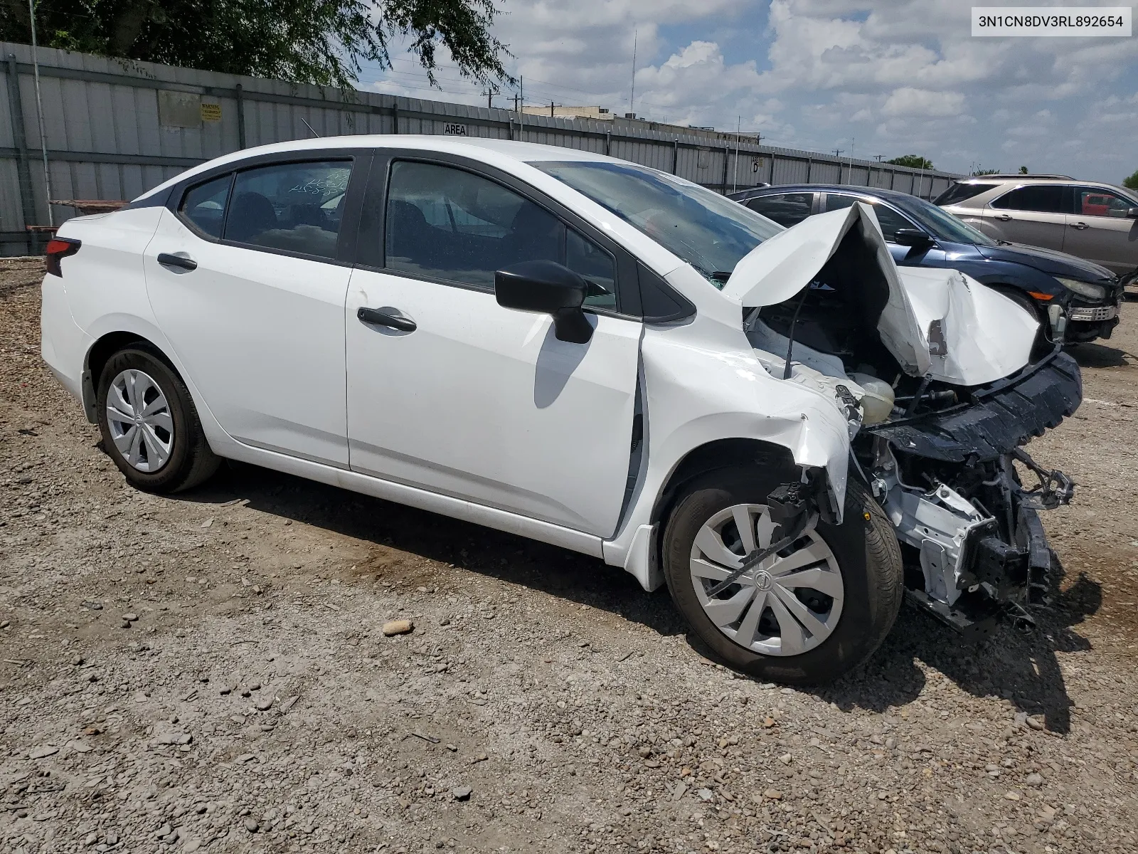
[[[847,236],[868,251],[861,253],[874,265],[867,278],[888,286],[877,334],[907,373],[973,386],[1028,363],[1034,318],[959,271],[898,268],[876,215],[861,203],[809,216],[759,244],[735,265],[723,295],[749,309],[783,303],[814,281]]]

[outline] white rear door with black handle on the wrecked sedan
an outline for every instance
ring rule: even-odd
[[[323,154],[185,187],[143,261],[158,326],[225,432],[343,468],[341,223],[352,176],[366,173],[353,164]]]

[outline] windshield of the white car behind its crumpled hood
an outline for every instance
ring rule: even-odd
[[[630,163],[530,163],[588,196],[721,288],[740,258],[782,225],[717,192]]]

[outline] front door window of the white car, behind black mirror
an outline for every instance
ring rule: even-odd
[[[586,305],[616,309],[616,261],[525,196],[465,170],[396,161],[387,190],[386,266],[493,289],[494,273],[554,261],[589,282]]]

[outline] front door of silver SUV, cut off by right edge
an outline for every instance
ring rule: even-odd
[[[1074,213],[1066,215],[1063,251],[1112,272],[1138,268],[1138,217],[1127,216],[1138,200],[1098,187],[1074,188]]]

